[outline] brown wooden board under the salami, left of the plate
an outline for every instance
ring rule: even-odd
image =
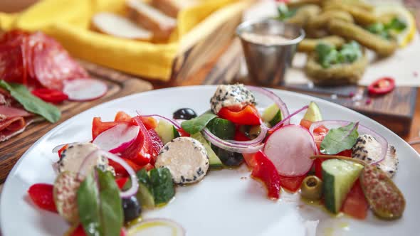
[[[13,168],[16,161],[23,153],[46,132],[50,131],[65,120],[85,111],[97,104],[113,100],[117,97],[135,94],[152,90],[152,84],[138,77],[126,75],[116,70],[103,68],[93,63],[79,61],[79,63],[90,73],[90,76],[103,80],[108,85],[108,92],[104,97],[90,102],[69,102],[66,101],[59,106],[61,109],[61,119],[55,124],[49,122],[38,122],[29,125],[26,130],[8,141],[0,143],[0,183],[6,180],[9,171]]]

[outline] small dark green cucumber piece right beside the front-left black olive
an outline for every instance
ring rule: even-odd
[[[149,173],[143,168],[137,171],[137,178],[139,180],[139,191],[137,191],[137,199],[140,200],[142,207],[153,208],[154,197],[152,183],[150,182]]]

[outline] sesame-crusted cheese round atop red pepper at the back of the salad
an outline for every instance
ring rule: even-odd
[[[217,114],[223,107],[241,110],[248,104],[256,104],[256,99],[253,93],[241,84],[219,85],[210,99],[210,104],[211,111]]]

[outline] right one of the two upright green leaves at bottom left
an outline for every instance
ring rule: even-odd
[[[100,225],[103,236],[120,235],[124,222],[120,189],[110,171],[103,172],[98,169],[97,172],[100,186]]]

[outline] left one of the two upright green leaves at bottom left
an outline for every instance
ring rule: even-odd
[[[80,183],[77,192],[78,210],[80,223],[88,236],[100,236],[100,207],[98,203],[98,185],[95,182],[92,171],[85,180]]]

